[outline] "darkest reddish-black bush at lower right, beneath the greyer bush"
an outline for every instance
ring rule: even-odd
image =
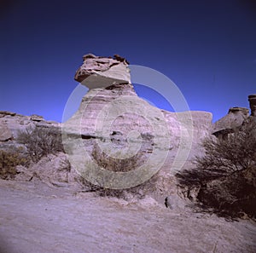
[[[221,216],[256,218],[256,168],[236,171],[223,179],[209,182],[198,193],[198,200]],[[249,177],[247,174],[251,174]]]

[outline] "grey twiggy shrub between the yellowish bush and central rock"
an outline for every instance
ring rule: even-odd
[[[17,141],[26,146],[33,162],[50,153],[63,152],[61,131],[44,127],[27,128],[18,133]]]

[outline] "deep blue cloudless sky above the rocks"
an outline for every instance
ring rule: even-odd
[[[119,54],[223,117],[256,93],[253,0],[0,2],[0,110],[61,121],[82,55]],[[159,85],[161,85],[159,83]],[[139,95],[157,106],[142,87]]]

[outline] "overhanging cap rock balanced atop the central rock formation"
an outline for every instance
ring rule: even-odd
[[[128,62],[119,55],[107,58],[89,54],[84,55],[83,60],[83,65],[75,74],[75,80],[89,89],[131,83]]]

